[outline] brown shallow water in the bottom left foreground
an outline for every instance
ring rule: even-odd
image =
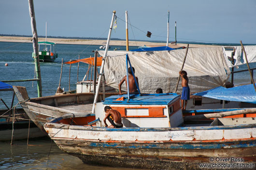
[[[0,142],[0,170],[136,170],[84,164],[61,151],[48,137]]]

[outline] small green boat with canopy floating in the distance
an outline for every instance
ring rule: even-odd
[[[40,62],[54,62],[58,57],[56,53],[56,43],[49,41],[38,42]],[[34,52],[32,53],[32,57]]]

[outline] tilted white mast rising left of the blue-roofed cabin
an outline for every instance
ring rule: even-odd
[[[100,81],[101,81],[101,77],[102,77],[102,73],[103,73],[103,69],[104,69],[104,64],[105,64],[105,59],[106,59],[106,55],[109,49],[109,41],[110,41],[110,36],[111,36],[111,32],[112,32],[112,27],[113,27],[113,23],[114,23],[114,16],[115,16],[115,11],[113,11],[113,15],[112,15],[112,20],[111,20],[111,24],[110,24],[110,28],[109,28],[109,35],[108,35],[108,40],[107,40],[107,44],[106,44],[106,49],[102,58],[102,63],[101,63],[101,67],[100,67],[100,76],[98,79],[98,84],[97,84],[97,89],[96,89],[96,94],[94,97],[94,101],[93,101],[93,106],[92,106],[92,114],[95,113],[95,104],[98,100],[98,96],[99,96],[99,91],[100,91]]]

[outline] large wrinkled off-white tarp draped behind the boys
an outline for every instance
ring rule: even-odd
[[[154,52],[109,51],[104,65],[106,83],[118,89],[126,76],[126,54],[135,68],[142,93],[174,92],[186,49]],[[99,51],[102,56],[104,51]],[[184,69],[189,78],[190,92],[202,92],[222,86],[230,75],[222,47],[188,49]],[[125,83],[122,90],[126,91]],[[181,80],[178,91],[182,91]]]

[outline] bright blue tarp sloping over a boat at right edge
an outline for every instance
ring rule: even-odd
[[[217,87],[208,91],[198,92],[193,95],[208,97],[218,100],[237,101],[256,104],[256,92],[253,84],[233,88]]]

